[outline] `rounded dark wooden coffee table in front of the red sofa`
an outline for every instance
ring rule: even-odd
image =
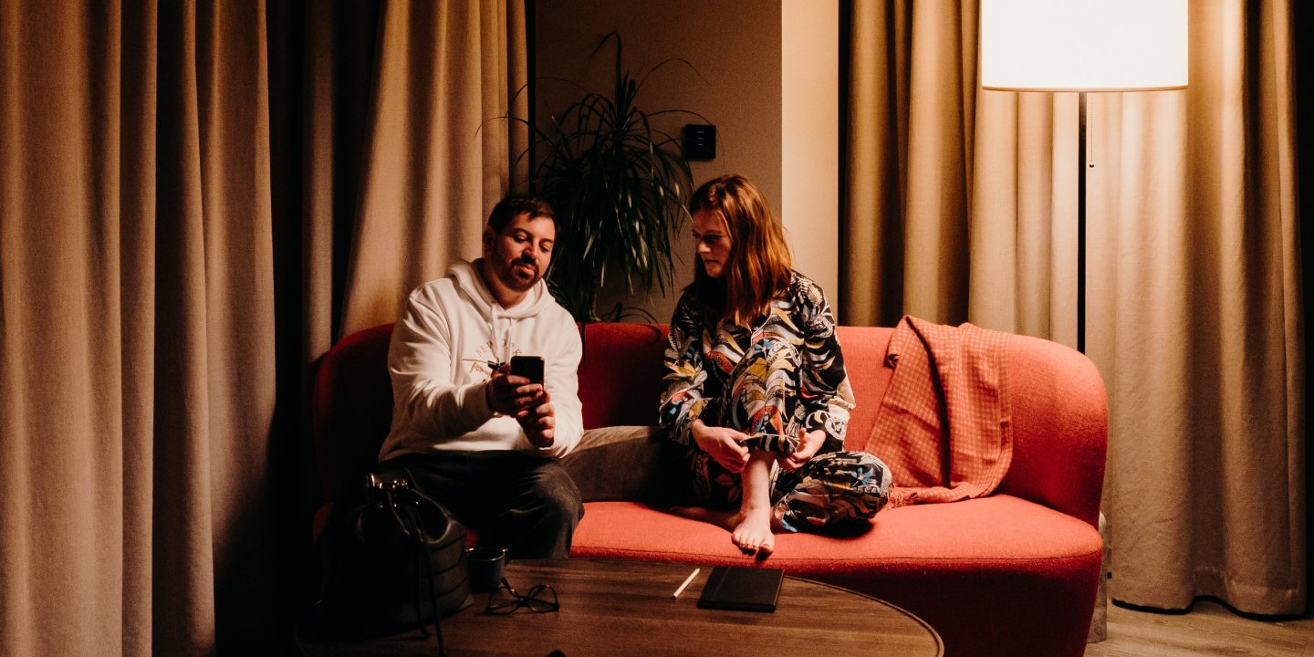
[[[660,561],[514,561],[506,578],[524,593],[536,583],[557,590],[560,611],[484,614],[487,594],[443,620],[451,657],[775,656],[945,652],[925,622],[887,602],[838,586],[786,577],[774,612],[706,610],[698,597],[710,566],[671,594],[695,566]],[[786,572],[786,574],[788,574]],[[432,656],[436,640],[419,632],[364,643],[302,645],[313,657]]]

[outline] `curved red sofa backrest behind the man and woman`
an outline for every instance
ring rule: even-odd
[[[841,326],[845,368],[857,409],[846,444],[861,449],[875,424],[891,369],[883,367],[894,328]],[[360,486],[392,423],[388,343],[392,325],[343,338],[319,363],[311,432],[327,501]],[[656,424],[665,325],[581,327],[579,398],[585,428]],[[1099,371],[1062,344],[1014,335],[1009,343],[1013,463],[1000,491],[1034,499],[1095,523],[1108,442]],[[880,456],[880,455],[878,455]]]

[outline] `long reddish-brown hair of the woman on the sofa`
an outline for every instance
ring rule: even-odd
[[[790,289],[794,264],[784,230],[771,217],[771,206],[757,185],[740,175],[703,183],[689,201],[690,214],[702,210],[721,217],[731,239],[731,255],[720,279],[708,276],[703,259],[694,258],[690,288],[721,319],[748,326]]]

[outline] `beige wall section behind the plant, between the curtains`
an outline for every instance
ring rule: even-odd
[[[694,163],[694,184],[721,173],[753,180],[784,222],[796,267],[821,283],[832,301],[837,297],[832,292],[837,0],[539,0],[535,7],[535,76],[540,80],[561,78],[603,91],[612,50],[589,55],[612,30],[624,39],[625,66],[636,76],[665,59],[689,60],[696,72],[671,64],[654,72],[640,93],[640,108],[690,109],[715,124],[716,159]],[[782,87],[796,89],[792,93],[802,95],[800,101],[782,102]],[[540,83],[537,93],[541,110],[543,102],[566,105],[579,91],[565,83]],[[788,138],[786,113],[792,117]],[[662,127],[678,134],[689,122],[699,121],[670,117]],[[782,166],[786,154],[790,166]],[[675,250],[674,290],[665,298],[629,301],[661,322],[670,318],[679,289],[692,280],[687,226]]]

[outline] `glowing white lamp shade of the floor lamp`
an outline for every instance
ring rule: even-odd
[[[980,12],[983,88],[1187,85],[1187,0],[982,0]]]

